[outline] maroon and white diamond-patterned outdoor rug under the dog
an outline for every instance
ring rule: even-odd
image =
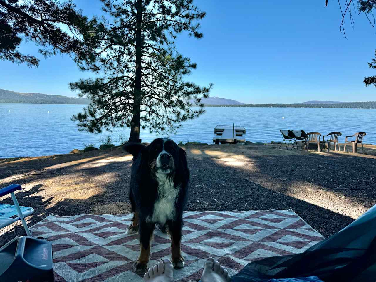
[[[139,254],[138,234],[126,234],[131,214],[50,215],[35,224],[33,236],[52,242],[55,282],[137,282],[132,272]],[[212,256],[236,274],[256,259],[300,253],[323,240],[295,212],[210,211],[184,213],[182,253],[185,267],[176,281],[197,281]],[[170,258],[170,238],[156,231],[149,266]]]

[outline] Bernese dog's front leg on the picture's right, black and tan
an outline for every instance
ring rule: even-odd
[[[171,234],[171,260],[175,268],[184,267],[184,258],[180,252],[180,241],[182,240],[182,219],[168,221],[168,230]]]

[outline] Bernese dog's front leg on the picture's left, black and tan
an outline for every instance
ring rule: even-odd
[[[136,273],[145,273],[148,270],[147,264],[150,259],[150,241],[152,240],[155,224],[139,222],[138,233],[140,239],[141,253],[133,265]]]

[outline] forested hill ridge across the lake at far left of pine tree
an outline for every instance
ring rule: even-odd
[[[75,98],[62,95],[47,95],[32,92],[22,93],[0,89],[0,103],[87,105],[90,102],[91,100],[87,98]]]

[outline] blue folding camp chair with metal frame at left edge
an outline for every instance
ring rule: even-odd
[[[12,184],[0,189],[0,197],[11,194],[14,203],[14,205],[0,204],[0,229],[16,222],[17,220],[21,220],[27,236],[31,237],[31,232],[29,230],[29,227],[27,227],[25,217],[28,217],[30,214],[32,214],[34,212],[34,209],[27,206],[18,205],[18,201],[16,199],[16,196],[14,195],[14,191],[17,190],[21,190],[21,185]]]

